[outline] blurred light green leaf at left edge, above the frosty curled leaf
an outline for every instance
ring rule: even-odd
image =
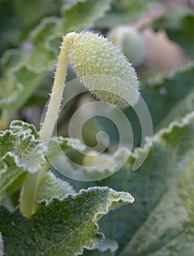
[[[22,62],[19,50],[7,51],[2,59],[4,75],[0,80],[0,108],[2,119],[7,123],[46,75],[45,71],[33,69]]]

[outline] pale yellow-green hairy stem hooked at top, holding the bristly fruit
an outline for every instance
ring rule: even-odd
[[[52,93],[50,94],[50,102],[47,108],[47,113],[42,124],[40,135],[42,142],[45,146],[50,142],[50,138],[53,134],[55,122],[58,119],[58,113],[61,106],[61,99],[63,96],[63,87],[66,80],[66,69],[69,60],[69,48],[71,42],[79,37],[77,33],[69,33],[63,37],[63,43],[61,45],[61,53],[58,57],[58,65],[55,72],[55,80],[53,83]]]

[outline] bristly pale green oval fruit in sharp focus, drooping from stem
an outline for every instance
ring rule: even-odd
[[[139,99],[136,72],[120,49],[87,32],[71,43],[69,57],[85,87],[103,102],[135,105]]]

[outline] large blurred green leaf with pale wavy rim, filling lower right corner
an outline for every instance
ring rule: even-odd
[[[150,153],[139,170],[131,170],[131,157],[128,168],[96,182],[130,190],[136,198],[130,208],[110,213],[99,223],[106,238],[119,244],[116,255],[193,256],[193,141],[194,112],[154,136]]]

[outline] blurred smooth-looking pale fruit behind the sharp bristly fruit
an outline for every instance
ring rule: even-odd
[[[132,26],[117,26],[107,34],[117,47],[134,66],[138,66],[144,59],[144,42],[141,34]]]

